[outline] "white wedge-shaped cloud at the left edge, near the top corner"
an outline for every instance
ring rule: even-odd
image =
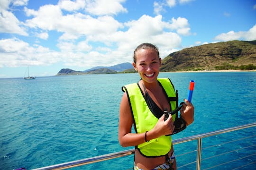
[[[23,28],[22,23],[18,21],[13,13],[3,10],[0,13],[0,33],[20,34],[27,36],[28,34]]]

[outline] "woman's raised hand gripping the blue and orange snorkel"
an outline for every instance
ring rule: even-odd
[[[187,99],[184,99],[184,102],[186,102],[186,104],[183,103],[180,112],[182,119],[185,120],[186,126],[188,126],[194,121],[194,106]]]

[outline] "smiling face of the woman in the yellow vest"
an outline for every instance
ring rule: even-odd
[[[155,82],[161,65],[161,58],[158,57],[157,52],[152,49],[139,49],[135,54],[134,69],[138,71],[145,83]]]

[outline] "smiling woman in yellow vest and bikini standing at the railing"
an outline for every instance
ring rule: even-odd
[[[139,73],[138,83],[122,87],[119,108],[119,143],[135,146],[134,170],[176,170],[171,136],[175,116],[165,120],[164,110],[176,107],[174,87],[168,78],[158,79],[161,58],[155,45],[140,44],[134,51],[133,67]],[[186,125],[193,122],[194,107],[184,99],[181,117]],[[132,125],[135,132],[131,133]]]

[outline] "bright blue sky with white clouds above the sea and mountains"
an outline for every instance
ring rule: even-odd
[[[0,0],[0,78],[132,62],[142,42],[256,40],[255,0]]]

